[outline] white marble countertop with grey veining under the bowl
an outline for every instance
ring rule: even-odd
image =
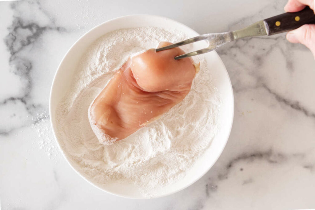
[[[70,46],[127,14],[157,14],[199,33],[283,12],[286,0],[0,2],[1,209],[315,208],[315,61],[285,35],[227,44],[235,116],[225,150],[202,179],[171,196],[124,199],[85,182],[56,148],[50,85]]]

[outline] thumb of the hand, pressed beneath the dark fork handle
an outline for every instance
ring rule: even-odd
[[[287,40],[291,43],[301,43],[309,48],[315,57],[315,25],[306,24],[287,33]]]

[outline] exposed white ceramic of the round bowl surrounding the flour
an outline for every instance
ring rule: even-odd
[[[188,37],[195,37],[199,35],[196,31],[174,20],[146,14],[129,15],[112,19],[88,31],[79,40],[77,40],[76,43],[72,45],[72,47],[66,53],[65,57],[62,59],[54,76],[54,81],[50,92],[49,114],[55,138],[56,138],[55,132],[57,130],[56,107],[59,104],[60,100],[63,98],[63,96],[67,93],[71,84],[72,75],[74,74],[77,62],[81,58],[85,50],[97,38],[101,37],[102,35],[110,31],[121,28],[144,26],[161,27],[166,30],[176,29],[178,31],[183,32]],[[205,43],[205,41],[202,41],[194,43],[193,48],[201,49],[204,48],[206,45],[207,43]],[[189,185],[193,184],[198,179],[200,179],[219,158],[221,152],[223,151],[226,145],[227,139],[229,138],[234,115],[234,99],[231,81],[227,74],[225,66],[223,65],[219,55],[215,51],[205,54],[205,59],[207,65],[210,66],[208,71],[209,73],[212,74],[213,82],[215,86],[218,88],[221,95],[222,101],[220,108],[220,116],[218,119],[220,130],[213,139],[209,148],[205,151],[204,155],[201,156],[198,159],[198,161],[192,166],[192,168],[186,173],[186,176],[183,179],[177,181],[176,183],[167,185],[163,187],[161,190],[156,191],[154,193],[155,194],[154,198],[170,195],[172,193],[183,190],[184,188],[188,187]],[[59,144],[59,139],[57,139],[57,142]],[[62,153],[64,154],[63,151]],[[65,158],[67,159],[66,156]],[[67,162],[71,165],[71,162],[68,159]],[[81,175],[83,179],[87,180],[82,174],[80,174],[76,170],[76,168],[74,168],[72,165],[71,167],[79,175]],[[95,185],[89,180],[87,181],[90,184]],[[111,183],[106,185],[106,187],[100,186],[96,187],[117,196],[136,199],[147,198],[142,196],[137,187],[135,187],[133,184]]]

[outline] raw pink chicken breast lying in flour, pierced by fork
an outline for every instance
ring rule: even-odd
[[[185,98],[199,65],[190,58],[175,60],[180,54],[180,48],[150,49],[117,70],[89,107],[89,122],[100,143],[128,137]]]

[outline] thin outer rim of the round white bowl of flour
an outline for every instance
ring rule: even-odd
[[[58,74],[58,71],[60,70],[60,66],[62,65],[62,63],[64,62],[66,56],[68,55],[68,53],[72,50],[72,48],[78,43],[81,41],[81,39],[83,39],[83,37],[85,37],[87,34],[91,33],[92,31],[95,31],[97,28],[103,26],[103,25],[106,25],[108,22],[111,22],[111,21],[114,21],[114,20],[119,20],[119,19],[125,19],[125,18],[129,18],[129,17],[142,17],[142,18],[145,18],[145,17],[153,17],[153,18],[160,18],[160,19],[165,19],[165,20],[168,20],[168,21],[173,21],[174,23],[178,24],[178,25],[181,25],[183,27],[186,27],[194,32],[196,32],[195,30],[193,30],[192,28],[186,26],[185,24],[183,23],[180,23],[176,20],[173,20],[173,19],[170,19],[170,18],[166,18],[166,17],[163,17],[163,16],[159,16],[159,15],[152,15],[152,14],[130,14],[130,15],[124,15],[124,16],[120,16],[120,17],[117,17],[117,18],[113,18],[113,19],[110,19],[110,20],[106,20],[105,22],[93,27],[92,29],[90,29],[89,31],[85,32],[79,39],[77,39],[77,41],[75,43],[72,44],[72,46],[67,50],[66,54],[63,56],[62,60],[60,61],[60,64],[58,65],[57,67],[57,70],[54,74],[54,78],[53,78],[53,81],[52,81],[52,84],[51,84],[51,88],[50,88],[50,93],[49,93],[49,120],[50,120],[50,124],[51,124],[51,128],[52,128],[52,133],[54,135],[54,139],[55,141],[57,142],[57,145],[62,153],[62,155],[64,156],[64,158],[66,159],[66,162],[70,165],[70,167],[79,175],[81,176],[85,181],[87,181],[89,184],[92,184],[93,186],[95,186],[96,188],[106,192],[106,193],[109,193],[111,195],[115,195],[115,196],[120,196],[120,197],[123,197],[123,198],[129,198],[129,199],[136,199],[136,200],[147,200],[147,199],[155,199],[155,198],[160,198],[160,197],[165,197],[165,196],[169,196],[171,194],[175,194],[181,190],[184,190],[185,188],[191,186],[192,184],[194,184],[195,182],[197,182],[199,179],[201,179],[209,170],[210,168],[215,164],[215,162],[217,162],[218,158],[221,156],[226,144],[227,144],[227,141],[229,139],[229,136],[230,136],[230,133],[231,133],[231,130],[232,130],[232,124],[233,124],[233,119],[234,119],[234,94],[233,94],[233,88],[232,88],[232,83],[231,83],[231,79],[228,75],[228,72],[226,70],[226,66],[224,65],[223,61],[221,60],[220,56],[217,54],[217,52],[214,50],[214,53],[220,58],[220,62],[221,62],[221,65],[224,67],[225,69],[225,74],[228,78],[228,83],[229,83],[229,89],[230,91],[232,92],[232,119],[231,119],[231,123],[230,123],[230,126],[228,128],[228,133],[227,133],[227,136],[226,136],[226,139],[225,139],[225,142],[221,148],[221,151],[218,153],[218,155],[216,156],[216,158],[214,159],[214,161],[212,162],[212,164],[209,165],[208,169],[204,172],[204,173],[201,173],[197,179],[195,179],[193,182],[187,184],[187,185],[184,185],[183,187],[175,190],[175,191],[171,191],[169,193],[165,193],[163,195],[158,195],[158,196],[153,196],[153,197],[131,197],[131,196],[126,196],[126,195],[123,195],[123,194],[119,194],[119,193],[113,193],[111,191],[107,191],[105,189],[102,189],[100,188],[100,186],[97,186],[96,184],[94,184],[93,182],[91,182],[90,180],[88,180],[87,178],[85,178],[81,173],[79,173],[71,164],[70,160],[68,159],[68,157],[66,156],[66,154],[64,153],[64,151],[62,150],[60,144],[59,144],[59,141],[58,141],[58,138],[56,136],[56,132],[55,132],[55,128],[54,128],[54,124],[53,124],[53,119],[52,119],[52,93],[53,93],[53,89],[54,89],[54,85],[55,85],[55,82],[56,82],[56,76]],[[196,32],[197,33],[197,32]],[[197,33],[199,34],[199,33]]]

